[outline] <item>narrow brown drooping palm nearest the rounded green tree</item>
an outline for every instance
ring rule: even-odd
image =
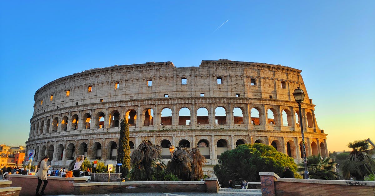
[[[201,152],[199,152],[197,147],[190,149],[190,157],[193,159],[190,180],[199,180],[204,178],[202,166],[206,162],[206,158],[204,158]]]

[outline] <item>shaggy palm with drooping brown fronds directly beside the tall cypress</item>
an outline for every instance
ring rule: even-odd
[[[132,170],[129,173],[130,179],[150,180],[152,168],[161,163],[161,152],[161,146],[152,145],[147,140],[142,141],[130,156],[130,164],[132,166]]]

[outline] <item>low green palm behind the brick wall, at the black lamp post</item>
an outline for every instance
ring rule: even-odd
[[[310,179],[339,179],[339,174],[333,171],[335,161],[331,157],[322,158],[320,154],[307,157],[307,166],[310,173]],[[305,163],[298,163],[298,171],[305,171]]]

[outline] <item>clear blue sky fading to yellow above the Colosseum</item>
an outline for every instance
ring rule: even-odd
[[[34,93],[56,78],[217,59],[301,69],[329,151],[375,140],[375,1],[132,2],[0,2],[0,143],[24,145]]]

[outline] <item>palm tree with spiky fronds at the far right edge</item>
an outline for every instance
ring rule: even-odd
[[[342,174],[345,179],[351,177],[356,180],[363,180],[364,176],[375,173],[375,161],[370,157],[374,148],[370,149],[366,140],[357,140],[347,145],[353,149],[349,157],[342,165]]]

